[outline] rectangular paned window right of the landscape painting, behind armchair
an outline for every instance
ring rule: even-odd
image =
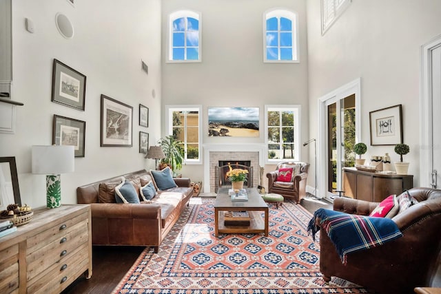
[[[300,105],[265,105],[267,162],[299,160]]]

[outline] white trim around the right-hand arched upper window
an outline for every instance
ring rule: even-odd
[[[269,60],[267,59],[267,19],[271,17],[285,17],[292,21],[292,56],[293,60]],[[300,63],[298,14],[295,11],[284,8],[273,8],[263,13],[263,62],[264,63]]]

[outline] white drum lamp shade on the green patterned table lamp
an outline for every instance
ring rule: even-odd
[[[32,146],[32,174],[72,173],[74,158],[74,146]]]

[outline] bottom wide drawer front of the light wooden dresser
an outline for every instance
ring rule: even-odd
[[[28,293],[60,293],[88,269],[88,244],[78,246],[61,262],[52,264],[28,282]]]

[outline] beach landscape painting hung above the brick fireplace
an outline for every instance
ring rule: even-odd
[[[208,107],[208,136],[258,137],[259,107]]]

